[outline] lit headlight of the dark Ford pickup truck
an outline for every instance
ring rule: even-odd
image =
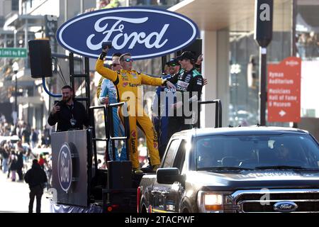
[[[200,212],[223,212],[223,194],[199,191],[197,204]]]

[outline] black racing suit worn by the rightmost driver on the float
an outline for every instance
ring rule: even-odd
[[[181,94],[181,100],[179,98],[179,94],[177,94],[177,102],[183,102],[183,106],[181,106],[182,111],[174,111],[174,116],[169,117],[168,136],[170,138],[178,131],[192,128],[192,124],[186,123],[186,120],[191,121],[193,115],[191,114],[192,102],[194,101],[193,104],[196,104],[197,100],[201,99],[203,77],[195,68],[193,68],[190,71],[181,69],[177,74],[167,80],[173,84],[176,84],[177,93],[180,92]],[[178,116],[180,115],[180,112],[181,116]]]

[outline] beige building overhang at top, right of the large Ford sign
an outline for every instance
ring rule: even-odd
[[[291,2],[274,1],[274,31],[291,30]],[[191,18],[202,31],[254,30],[254,0],[184,0],[169,11]]]

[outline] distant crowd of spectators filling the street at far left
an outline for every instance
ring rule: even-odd
[[[13,125],[0,114],[0,170],[11,181],[23,181],[33,159],[43,163],[43,170],[51,178],[50,131],[31,128],[29,123],[18,121]]]

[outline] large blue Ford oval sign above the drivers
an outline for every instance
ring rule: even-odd
[[[145,7],[121,7],[84,13],[62,24],[57,41],[85,57],[99,57],[101,43],[111,41],[108,52],[130,52],[135,60],[177,52],[194,42],[198,28],[179,13]]]

